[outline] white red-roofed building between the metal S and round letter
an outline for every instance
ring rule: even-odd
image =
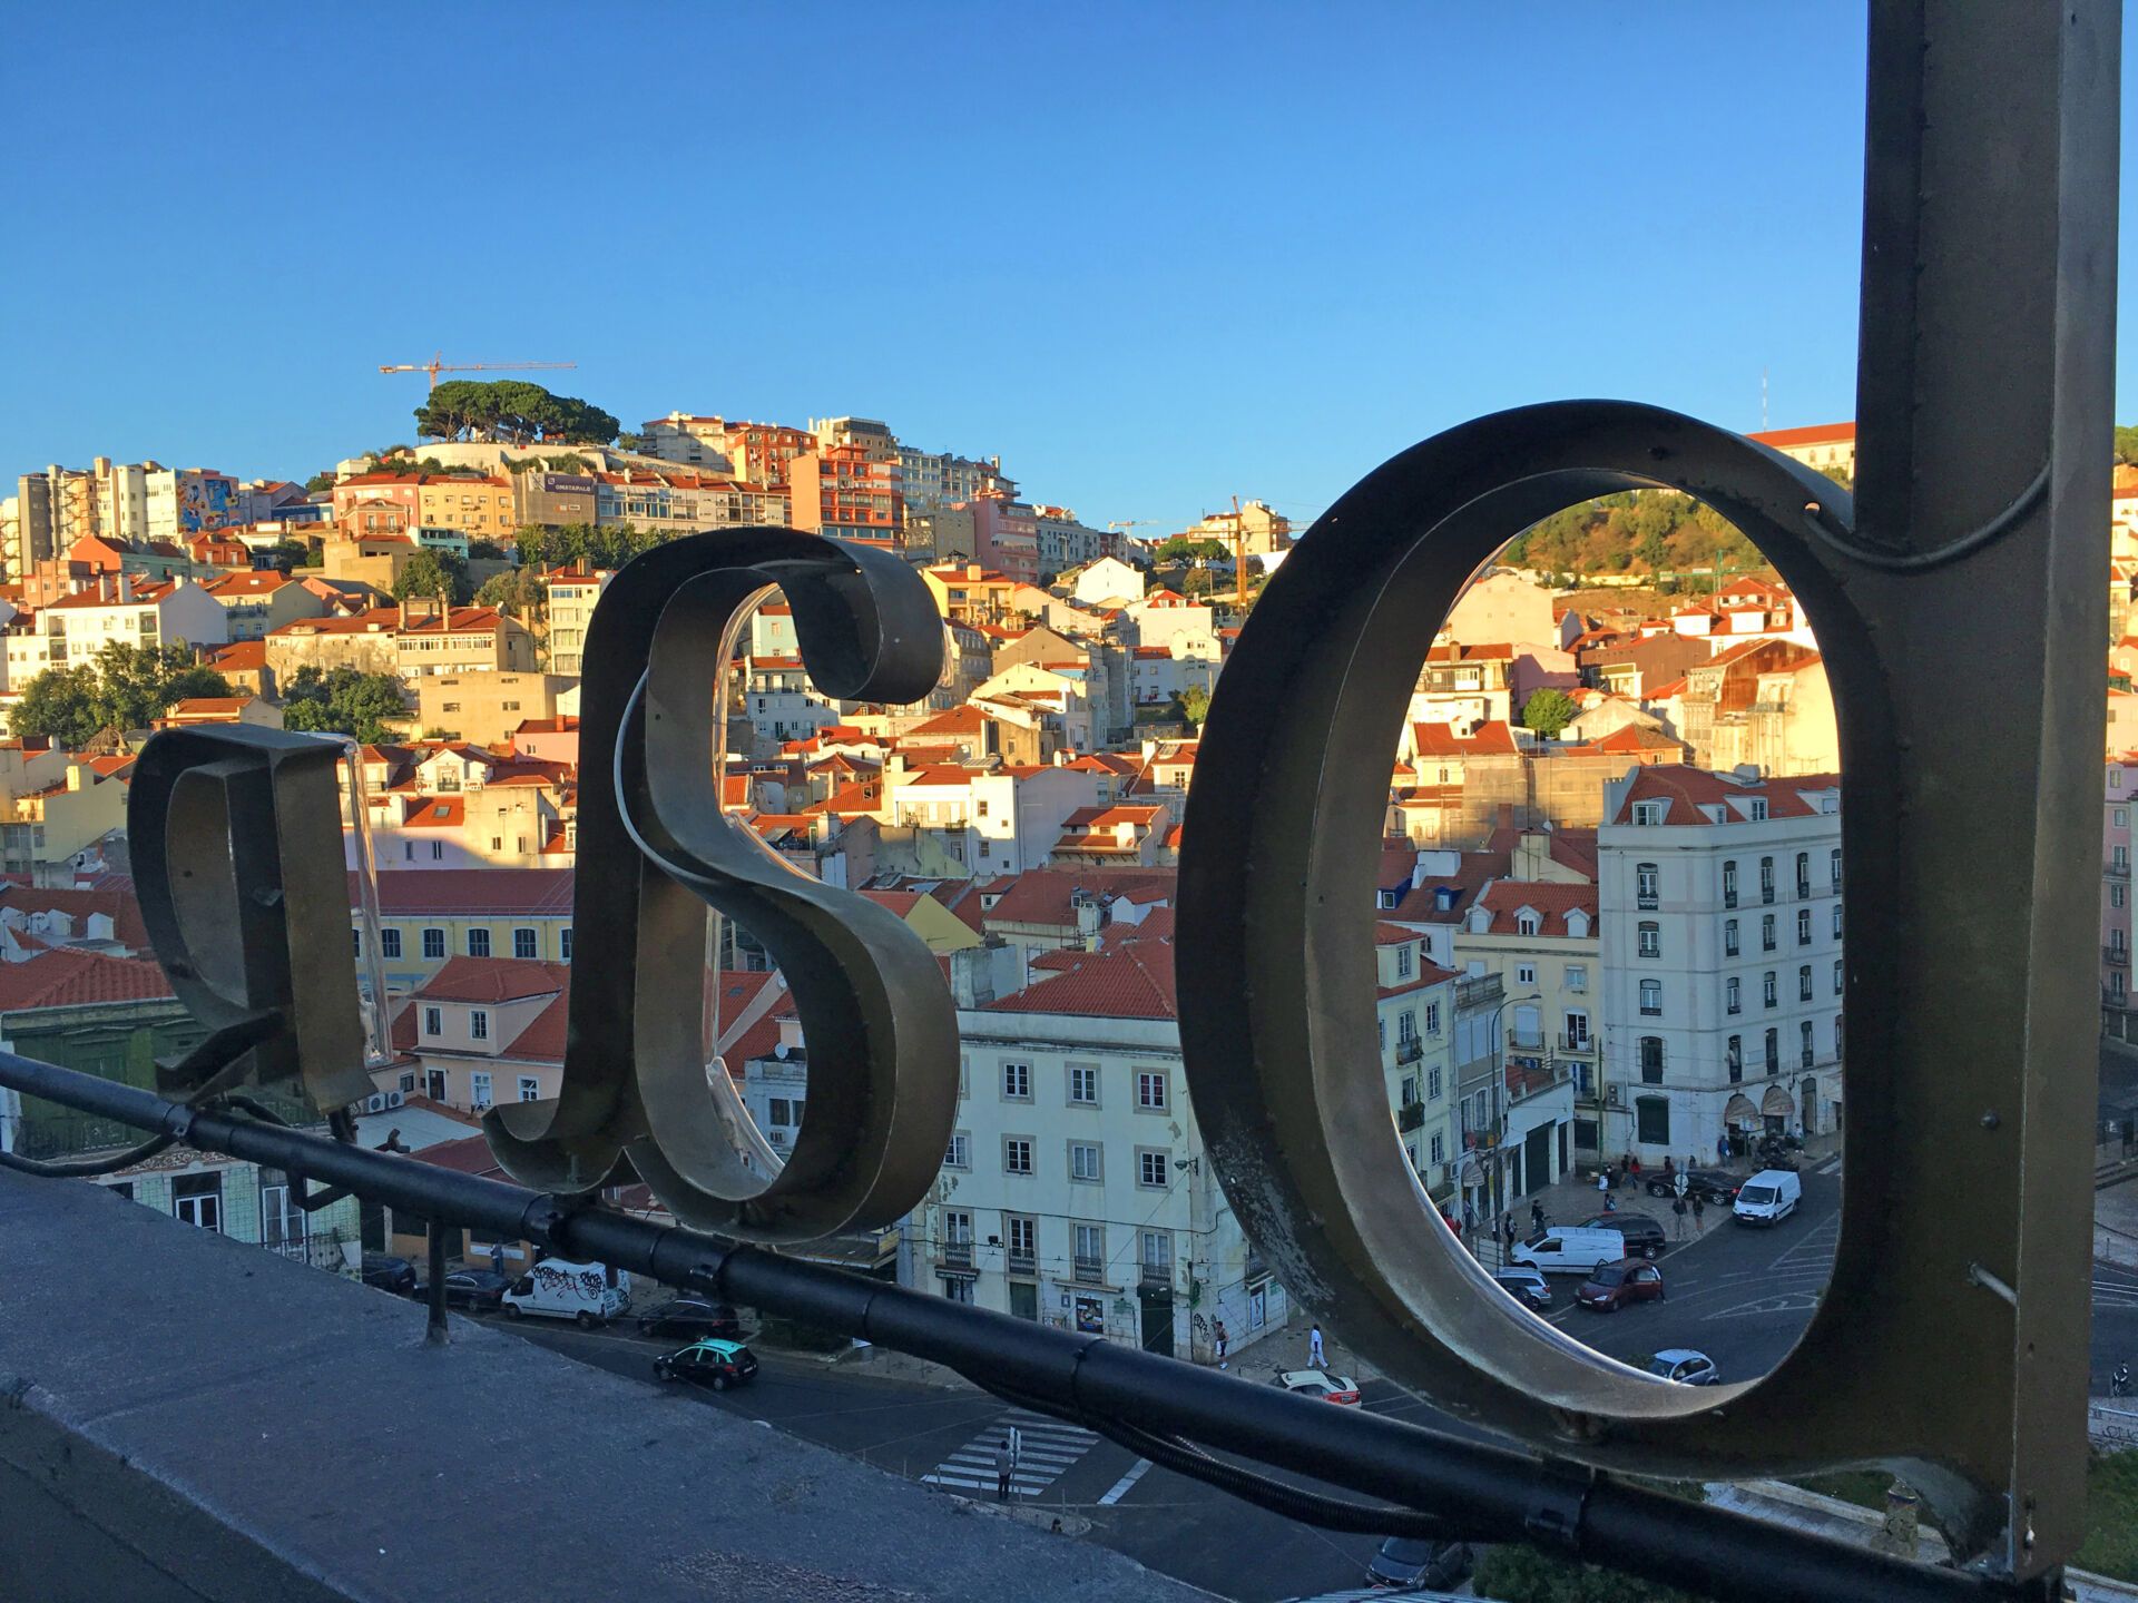
[[[1065,955],[1067,958],[1067,955]],[[1189,1109],[1172,947],[1131,940],[962,1007],[956,1131],[911,1280],[1172,1357],[1285,1321]]]

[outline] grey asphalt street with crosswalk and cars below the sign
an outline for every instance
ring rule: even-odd
[[[1824,1171],[1822,1171],[1824,1169]],[[1706,1233],[1672,1242],[1663,1252],[1668,1297],[1595,1314],[1571,1306],[1576,1276],[1552,1276],[1559,1306],[1552,1323],[1621,1359],[1663,1347],[1693,1347],[1725,1379],[1770,1370],[1796,1342],[1832,1265],[1839,1238],[1841,1178],[1815,1161],[1804,1176],[1798,1214],[1753,1229],[1710,1212]],[[2134,1186],[2138,1188],[2138,1186]],[[1623,1203],[1672,1227],[1668,1203]],[[673,1342],[639,1338],[629,1327],[582,1332],[547,1321],[520,1321],[517,1334],[599,1368],[652,1385],[652,1359]],[[1360,1586],[1375,1537],[1343,1537],[1283,1520],[1199,1481],[1157,1468],[1135,1453],[1033,1415],[971,1387],[879,1379],[866,1366],[759,1351],[753,1385],[710,1394],[667,1389],[678,1409],[714,1406],[804,1436],[892,1475],[945,1494],[992,1498],[994,1447],[1016,1426],[1024,1458],[1013,1496],[1041,1515],[1090,1522],[1090,1539],[1116,1552],[1242,1603],[1274,1603]],[[2138,1270],[2100,1263],[2093,1280],[2095,1391],[2106,1391],[2117,1359],[2138,1366]],[[1255,1383],[1276,1368],[1306,1361],[1306,1323],[1266,1336],[1238,1353],[1236,1370]],[[1358,1374],[1364,1406],[1396,1419],[1479,1436],[1441,1417],[1396,1383],[1355,1364],[1332,1332],[1330,1368]],[[1283,1477],[1315,1485],[1304,1477]],[[1328,1490],[1328,1488],[1321,1488]]]

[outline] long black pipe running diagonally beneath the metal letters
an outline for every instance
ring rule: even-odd
[[[0,1086],[188,1146],[325,1180],[432,1229],[432,1287],[443,1285],[440,1227],[477,1225],[573,1259],[611,1263],[669,1285],[862,1336],[945,1364],[966,1379],[1018,1391],[1069,1417],[1110,1415],[1178,1434],[1349,1492],[1447,1518],[1479,1541],[1541,1541],[1614,1569],[1732,1599],[2035,1597],[1986,1575],[1928,1569],[1728,1509],[1651,1492],[1531,1453],[1443,1436],[1358,1409],[1296,1398],[1234,1374],[1131,1347],[969,1308],[842,1270],[723,1246],[676,1225],[652,1225],[500,1180],[368,1152],[289,1126],[190,1109],[137,1086],[0,1054]]]

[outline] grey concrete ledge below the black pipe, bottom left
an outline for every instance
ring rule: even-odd
[[[0,1597],[1206,1597],[90,1184],[0,1171]]]

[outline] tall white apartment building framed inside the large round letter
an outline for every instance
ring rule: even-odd
[[[1633,769],[1604,787],[1597,891],[1608,1154],[1839,1129],[1839,778]]]

